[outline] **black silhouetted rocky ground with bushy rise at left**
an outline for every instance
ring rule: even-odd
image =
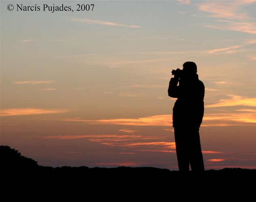
[[[129,196],[143,194],[171,194],[180,190],[238,194],[255,191],[256,169],[224,168],[204,173],[170,171],[153,167],[88,168],[40,166],[9,146],[0,146],[1,193],[63,195],[79,194],[87,197],[94,191],[102,193],[119,190]],[[252,184],[252,185],[251,185]],[[120,193],[121,193],[120,192]],[[144,194],[146,194],[144,193]],[[85,195],[84,195],[85,194]]]

